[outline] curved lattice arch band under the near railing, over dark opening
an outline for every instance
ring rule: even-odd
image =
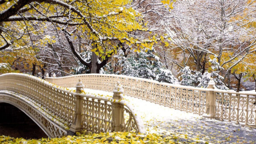
[[[50,138],[61,137],[67,135],[67,130],[59,127],[58,124],[47,118],[41,112],[38,106],[31,104],[19,95],[12,92],[0,92],[0,103],[11,104],[21,111],[23,111],[29,118],[31,118]]]

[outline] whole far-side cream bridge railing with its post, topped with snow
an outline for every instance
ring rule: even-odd
[[[88,89],[108,92],[114,88],[117,81],[120,81],[125,95],[209,118],[256,126],[256,92],[234,92],[217,89],[214,81],[210,81],[207,88],[198,88],[159,83],[125,75],[107,74],[82,74],[60,78],[47,77],[46,81],[58,86],[74,87],[78,79],[81,79]]]

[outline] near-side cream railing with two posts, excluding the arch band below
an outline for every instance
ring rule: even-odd
[[[78,81],[79,79],[76,83]],[[29,98],[51,112],[59,121],[68,124],[71,132],[145,132],[141,118],[134,113],[127,101],[121,99],[123,91],[120,85],[117,91],[113,91],[115,99],[86,93],[82,90],[81,82],[74,86],[76,91],[31,75],[0,75],[0,91],[15,92]],[[128,114],[127,118],[124,113]]]

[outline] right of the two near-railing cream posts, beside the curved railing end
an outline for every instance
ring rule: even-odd
[[[122,99],[122,93],[124,89],[120,85],[120,82],[117,82],[116,87],[113,89],[113,99],[112,102],[112,126],[115,132],[122,132],[125,128],[125,119],[124,119],[124,106],[119,103],[119,100]]]

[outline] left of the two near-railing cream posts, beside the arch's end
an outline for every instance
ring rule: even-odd
[[[82,98],[79,94],[84,89],[84,84],[79,79],[79,82],[76,84],[76,118],[75,122],[71,125],[70,131],[73,133],[79,132],[82,130],[81,126],[81,112],[82,112]]]

